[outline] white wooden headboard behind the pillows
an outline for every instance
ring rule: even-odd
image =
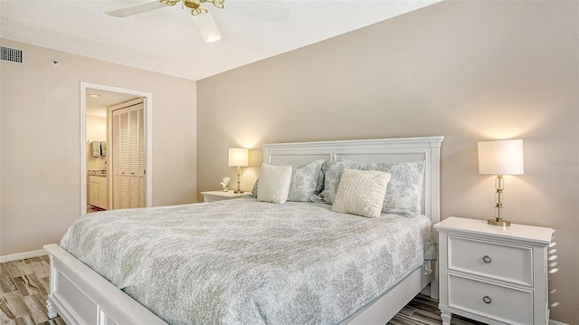
[[[318,159],[340,159],[397,163],[426,161],[422,214],[432,220],[441,220],[440,173],[441,143],[444,137],[417,137],[393,139],[363,139],[264,144],[263,162],[273,165],[303,165]]]

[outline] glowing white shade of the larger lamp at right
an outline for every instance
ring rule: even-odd
[[[521,175],[524,169],[523,140],[479,142],[479,174]]]

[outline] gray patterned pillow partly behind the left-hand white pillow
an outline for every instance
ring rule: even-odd
[[[316,192],[318,176],[322,172],[324,160],[316,160],[306,165],[291,167],[291,184],[288,201],[309,202]]]

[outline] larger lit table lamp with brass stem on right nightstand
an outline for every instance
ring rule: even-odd
[[[508,226],[503,220],[500,209],[505,181],[503,175],[522,175],[524,172],[523,140],[498,140],[479,142],[479,174],[497,175],[497,217],[489,219],[489,225]]]

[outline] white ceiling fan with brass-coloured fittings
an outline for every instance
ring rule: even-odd
[[[127,17],[133,14],[142,14],[147,11],[164,8],[166,6],[182,3],[183,7],[191,9],[197,29],[203,36],[205,43],[221,40],[221,33],[214,17],[202,4],[213,4],[216,8],[233,11],[240,14],[251,14],[256,17],[282,22],[288,18],[287,8],[277,5],[268,5],[252,0],[156,0],[146,3],[131,5],[125,8],[106,12],[114,17]]]

